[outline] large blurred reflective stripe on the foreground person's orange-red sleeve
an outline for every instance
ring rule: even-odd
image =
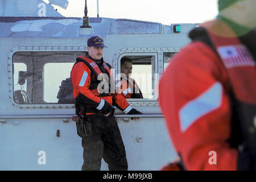
[[[179,111],[181,131],[185,131],[197,119],[220,107],[222,101],[222,86],[216,82],[199,97],[188,102]]]

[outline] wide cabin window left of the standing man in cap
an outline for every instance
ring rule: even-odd
[[[70,72],[86,52],[16,52],[13,55],[17,104],[73,104]]]

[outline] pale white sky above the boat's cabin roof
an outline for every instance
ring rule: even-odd
[[[43,0],[48,2],[48,0]],[[63,1],[63,0],[62,0]],[[55,6],[67,17],[84,16],[85,0],[68,0],[67,10]],[[217,15],[217,0],[98,0],[104,18],[126,18],[171,23],[203,23]],[[97,0],[87,0],[88,16],[97,17]]]

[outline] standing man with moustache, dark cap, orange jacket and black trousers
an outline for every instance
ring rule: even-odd
[[[77,57],[71,71],[76,114],[82,114],[84,123],[77,127],[84,148],[82,170],[100,170],[102,158],[108,163],[109,170],[127,170],[125,146],[113,106],[126,114],[139,114],[139,111],[133,109],[122,94],[112,90],[115,86],[111,81],[111,66],[102,58],[106,47],[104,40],[92,36],[87,45],[88,55]],[[79,132],[81,128],[84,132]]]

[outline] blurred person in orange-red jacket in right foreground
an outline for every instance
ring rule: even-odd
[[[219,0],[170,61],[159,103],[188,170],[256,170],[256,1]],[[176,164],[176,165],[175,165]]]

